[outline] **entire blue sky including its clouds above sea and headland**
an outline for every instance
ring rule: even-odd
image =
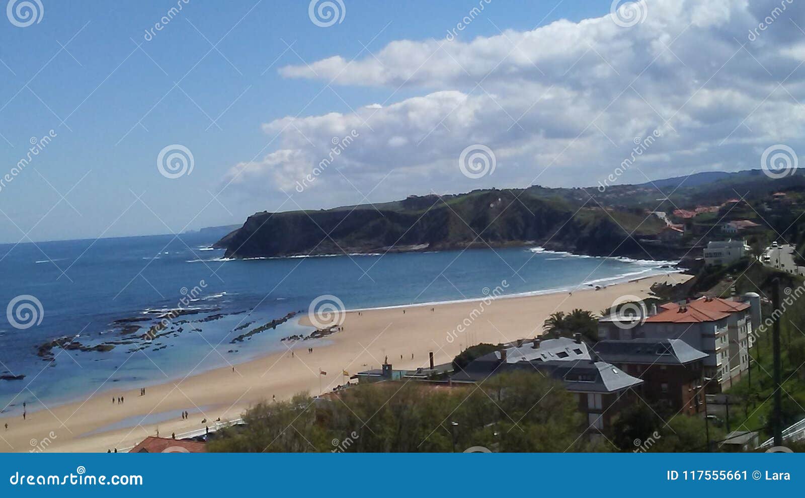
[[[734,171],[758,167],[746,157],[766,144],[795,146],[802,126],[789,109],[802,71],[793,6],[791,20],[741,50],[772,3],[650,1],[645,20],[621,27],[609,2],[343,0],[342,22],[319,27],[308,2],[179,0],[149,41],[175,0],[40,2],[31,26],[0,17],[0,177],[53,130],[0,184],[0,242],[178,232],[430,191],[596,185],[633,138],[658,128],[674,140],[624,179]],[[431,50],[436,42],[445,48]],[[734,83],[741,72],[750,72],[744,88]],[[753,78],[758,88],[746,88]],[[764,99],[780,81],[791,97]],[[790,126],[758,130],[755,119]],[[359,138],[332,163],[338,171],[297,195],[330,139],[350,130]],[[192,152],[190,175],[160,174],[157,157],[172,144]],[[455,167],[473,144],[494,151],[495,175],[476,181]],[[604,148],[611,158],[601,164]]]

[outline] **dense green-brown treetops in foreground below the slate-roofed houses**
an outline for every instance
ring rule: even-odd
[[[210,451],[606,450],[583,435],[576,397],[537,372],[462,388],[389,381],[322,398],[300,394],[257,405],[244,419]]]

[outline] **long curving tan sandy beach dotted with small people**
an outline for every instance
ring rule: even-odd
[[[24,421],[19,416],[0,418],[0,451],[105,452],[132,447],[146,436],[156,435],[157,430],[160,436],[170,437],[172,432],[213,428],[217,418],[238,418],[250,405],[272,397],[286,399],[302,391],[318,394],[320,389],[328,392],[345,383],[343,371],[353,375],[379,368],[386,356],[394,368],[427,366],[428,352],[434,353],[436,364],[445,363],[471,344],[535,337],[554,311],[582,308],[597,313],[623,295],[649,295],[654,282],[676,283],[687,278],[672,274],[602,290],[579,290],[572,295],[562,292],[499,298],[482,307],[480,302],[460,302],[360,314],[350,311],[344,330],[329,336],[328,344],[299,341],[292,352],[264,356],[234,368],[192,372],[197,374],[147,387],[145,396],[140,396],[138,389],[110,390],[112,384],[108,383],[84,399],[28,412]],[[307,317],[301,323],[308,324]],[[463,332],[456,331],[460,323],[465,326]],[[312,345],[313,352],[309,353]],[[320,371],[326,375],[320,376]],[[112,398],[119,396],[125,402],[112,404]],[[192,412],[188,420],[180,417],[182,410]],[[138,425],[143,418],[153,421],[166,414],[171,416],[167,421]],[[201,422],[204,418],[207,423]]]

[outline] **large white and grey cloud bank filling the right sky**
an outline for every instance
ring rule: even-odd
[[[283,76],[334,80],[336,92],[336,84],[387,87],[390,101],[270,121],[263,130],[279,134],[279,150],[233,167],[229,179],[287,190],[328,157],[332,138],[352,130],[359,137],[300,202],[355,202],[357,191],[368,193],[390,172],[372,200],[431,189],[595,185],[634,138],[654,129],[663,137],[622,183],[758,168],[757,150],[774,143],[805,151],[798,103],[805,33],[797,26],[805,27],[805,7],[786,5],[749,41],[780,3],[650,0],[634,27],[609,15],[559,20],[469,41],[398,40],[357,60],[344,54],[287,66]],[[420,96],[395,102],[399,87]],[[475,143],[494,151],[497,169],[473,181],[457,160]]]

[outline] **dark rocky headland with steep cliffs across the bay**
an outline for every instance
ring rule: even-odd
[[[660,228],[654,216],[646,219],[644,213],[604,212],[528,191],[492,190],[412,197],[377,208],[256,213],[216,246],[226,249],[225,257],[544,245],[592,255],[657,258],[658,253],[646,253],[637,241],[654,237]]]

